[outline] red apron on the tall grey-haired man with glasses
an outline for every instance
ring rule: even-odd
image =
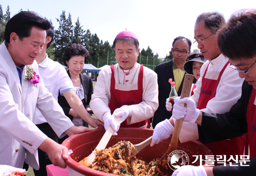
[[[222,71],[219,74],[217,80],[205,78],[205,74],[208,70],[204,72],[202,77],[202,87],[200,91],[200,96],[198,100],[198,109],[206,108],[208,101],[216,96],[216,90],[219,85],[220,79],[226,67],[229,65],[229,61],[227,64],[222,68]],[[245,136],[245,135],[244,135]],[[229,155],[243,155],[245,139],[244,136],[242,137],[235,137],[229,140],[222,140],[213,143],[205,143],[205,145],[212,151],[213,155],[226,155],[227,160],[229,159]],[[220,165],[215,162],[215,165]]]

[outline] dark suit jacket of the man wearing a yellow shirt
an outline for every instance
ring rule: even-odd
[[[153,118],[153,128],[155,128],[156,124],[162,122],[166,118],[169,119],[172,115],[169,111],[166,110],[165,103],[171,91],[171,84],[168,82],[168,80],[169,78],[172,78],[172,80],[175,81],[173,75],[173,60],[156,65],[155,72],[157,73],[159,106],[158,109],[155,111],[155,115]],[[181,96],[184,78],[185,75],[182,79],[179,91],[177,92],[178,96]],[[194,79],[193,82],[195,83],[196,79]]]

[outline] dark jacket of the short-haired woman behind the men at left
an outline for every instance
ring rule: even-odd
[[[69,71],[67,71],[67,74],[70,77]],[[80,73],[80,78],[81,78],[81,82],[82,82],[82,86],[83,86],[83,90],[84,90],[83,105],[84,105],[84,107],[87,107],[92,99],[92,94],[94,92],[93,81],[90,77],[83,75],[81,73]],[[59,96],[58,96],[58,102],[61,105],[65,115],[67,117],[69,117],[71,120],[73,120],[73,116],[68,115],[69,110],[71,108],[70,108],[69,104],[67,103],[66,98],[64,96],[61,96],[60,92],[59,92]]]

